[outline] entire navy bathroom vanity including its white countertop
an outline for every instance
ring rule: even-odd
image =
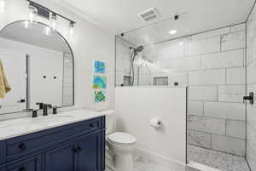
[[[108,112],[69,111],[18,120],[19,126],[10,121],[0,128],[0,171],[105,170]]]

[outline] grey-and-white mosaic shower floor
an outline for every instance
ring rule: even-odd
[[[194,145],[188,145],[188,159],[222,171],[250,171],[244,157],[236,157]]]

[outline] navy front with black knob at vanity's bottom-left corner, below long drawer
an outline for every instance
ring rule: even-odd
[[[31,157],[20,162],[9,164],[1,171],[41,171],[41,156]]]

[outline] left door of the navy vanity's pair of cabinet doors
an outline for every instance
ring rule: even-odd
[[[44,171],[74,171],[73,143],[44,153]]]

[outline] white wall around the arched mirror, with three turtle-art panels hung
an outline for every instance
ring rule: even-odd
[[[38,0],[37,2],[77,22],[73,35],[69,34],[70,27],[67,20],[58,18],[58,26],[56,28],[67,39],[73,49],[75,65],[75,107],[86,107],[93,110],[113,108],[113,35],[53,3],[44,0]],[[9,0],[6,3],[6,12],[0,15],[0,29],[13,21],[28,19],[26,1]],[[38,20],[49,25],[48,20],[41,18],[38,18]],[[107,102],[105,103],[96,104],[93,100],[93,89],[91,88],[93,75],[92,60],[103,60],[107,63],[106,75],[108,77],[108,89],[106,90]]]

